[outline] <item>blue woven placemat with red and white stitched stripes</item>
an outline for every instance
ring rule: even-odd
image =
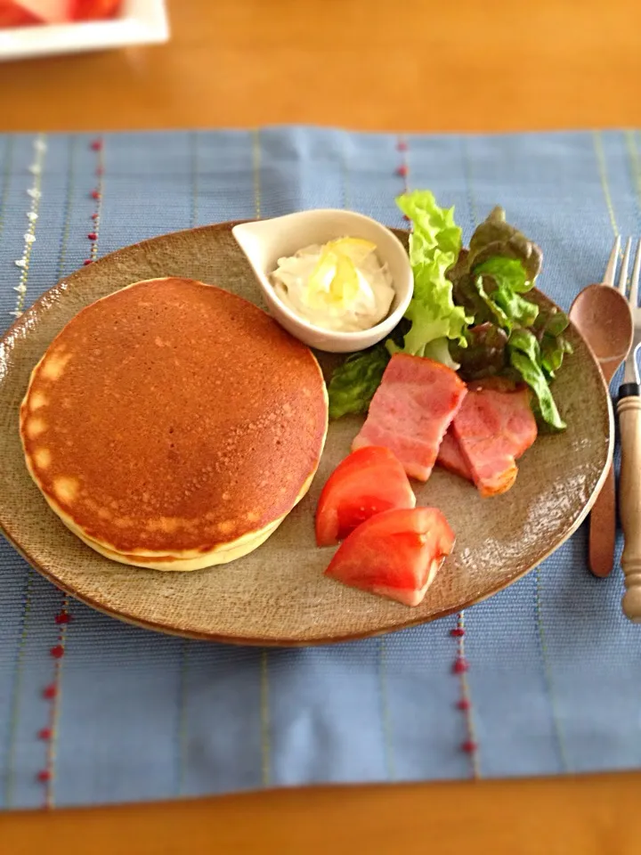
[[[342,206],[402,226],[406,185],[455,204],[466,239],[504,205],[567,307],[600,281],[613,233],[641,233],[641,136],[0,135],[0,326],[85,260],[161,232]],[[0,806],[637,767],[639,630],[620,569],[596,581],[585,560],[582,529],[466,615],[260,650],[118,623],[0,542]]]

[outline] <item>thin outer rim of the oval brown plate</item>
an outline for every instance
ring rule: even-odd
[[[93,262],[93,265],[102,265],[104,262],[106,262],[108,260],[111,261],[115,256],[118,256],[121,253],[126,253],[126,252],[130,251],[132,248],[141,248],[142,250],[144,250],[145,246],[150,244],[151,242],[162,239],[162,238],[166,238],[166,237],[169,237],[172,235],[188,234],[188,233],[193,233],[193,232],[211,232],[212,230],[231,233],[231,228],[234,225],[238,225],[241,223],[247,223],[247,222],[251,222],[251,221],[250,220],[226,220],[226,221],[223,221],[222,223],[212,223],[212,224],[207,224],[207,225],[199,225],[199,226],[196,226],[196,227],[191,228],[191,229],[180,229],[180,230],[177,230],[175,232],[164,232],[163,234],[158,234],[158,235],[155,235],[154,237],[147,238],[145,240],[140,240],[140,241],[137,241],[136,243],[128,244],[126,247],[120,247],[118,249],[115,249],[113,252],[110,252],[105,256],[101,256],[101,258],[99,258],[95,262]],[[394,231],[394,233],[399,237],[401,237],[403,235],[408,235],[410,233],[406,229],[398,229],[398,228],[394,228],[391,226],[389,228],[391,228]],[[3,335],[0,336],[0,347],[4,346],[6,344],[7,339],[12,338],[12,336],[16,330],[22,329],[24,327],[24,325],[28,323],[28,320],[31,316],[37,316],[39,307],[41,305],[46,304],[47,297],[51,297],[53,291],[58,289],[58,291],[60,292],[60,289],[63,285],[65,286],[65,290],[69,290],[70,287],[73,287],[74,281],[76,281],[77,278],[82,278],[82,277],[78,277],[78,274],[83,273],[84,269],[85,268],[78,268],[76,271],[69,273],[69,275],[63,276],[60,280],[56,281],[52,285],[51,288],[45,290],[45,292],[43,294],[41,294],[40,297],[38,297],[37,300],[35,300],[28,307],[28,309],[23,314],[20,315],[20,317],[16,318],[16,320],[14,322],[12,322],[12,324],[3,333]],[[548,302],[552,303],[553,305],[556,305],[556,303],[551,299],[551,297],[548,297],[548,295],[545,294],[543,291],[540,291],[540,289],[534,289],[534,290],[537,294],[540,294],[542,297],[544,297],[546,300],[548,300]],[[55,298],[60,299],[60,293],[58,293]],[[556,306],[556,307],[558,308],[558,306]],[[69,594],[69,596],[73,597],[74,599],[79,600],[80,602],[84,603],[86,606],[93,608],[94,610],[100,612],[102,615],[108,615],[110,617],[116,618],[117,620],[119,620],[123,623],[128,623],[129,625],[137,626],[137,627],[140,627],[141,629],[159,632],[163,635],[170,635],[170,636],[174,636],[176,638],[193,639],[193,640],[198,640],[198,641],[211,641],[211,642],[216,642],[216,643],[231,644],[231,645],[240,646],[240,647],[317,647],[317,646],[328,645],[328,644],[340,644],[340,643],[344,643],[345,641],[376,638],[378,636],[387,635],[387,634],[390,634],[393,632],[408,630],[408,629],[411,629],[413,627],[419,626],[419,625],[424,624],[424,623],[432,623],[433,621],[440,620],[441,618],[447,617],[448,615],[454,615],[457,612],[463,611],[467,608],[471,608],[471,607],[477,605],[478,603],[482,603],[486,599],[490,599],[491,597],[495,596],[495,594],[498,594],[501,590],[505,590],[505,589],[509,588],[511,585],[515,584],[515,582],[519,582],[521,579],[523,579],[524,576],[531,573],[532,570],[536,569],[544,561],[546,561],[552,554],[554,554],[554,552],[556,552],[556,550],[560,549],[560,547],[563,546],[564,543],[567,542],[572,537],[572,535],[577,532],[580,525],[583,523],[583,521],[586,519],[586,517],[588,517],[588,513],[593,508],[593,506],[596,502],[596,498],[598,497],[598,495],[601,492],[601,489],[604,485],[605,478],[607,477],[608,472],[609,472],[611,466],[613,465],[613,453],[614,453],[614,441],[615,441],[614,414],[613,414],[613,403],[612,403],[612,398],[610,395],[609,386],[606,384],[606,382],[604,380],[604,376],[603,376],[603,373],[601,371],[601,368],[600,368],[600,366],[596,360],[595,355],[592,353],[592,350],[588,346],[588,342],[580,334],[580,331],[577,329],[576,325],[572,321],[570,321],[570,325],[572,326],[572,331],[575,333],[575,335],[577,335],[581,339],[583,344],[586,346],[586,351],[589,355],[589,358],[591,359],[591,361],[594,363],[594,366],[596,367],[596,373],[600,379],[601,387],[604,391],[604,395],[605,395],[605,398],[607,401],[608,448],[607,448],[607,455],[606,455],[604,468],[601,472],[601,475],[599,476],[592,493],[590,493],[590,495],[588,496],[588,500],[585,502],[583,508],[580,511],[580,514],[574,520],[572,527],[568,530],[567,533],[565,533],[564,537],[561,540],[559,540],[558,542],[556,542],[556,544],[550,550],[548,550],[535,564],[532,564],[531,566],[527,567],[525,570],[523,570],[521,573],[517,574],[516,576],[511,577],[509,579],[509,581],[506,582],[505,584],[499,584],[499,585],[495,586],[494,588],[492,588],[491,590],[484,591],[482,596],[475,597],[472,599],[468,599],[468,600],[464,601],[463,603],[458,604],[456,607],[443,609],[442,611],[438,612],[437,614],[431,615],[427,618],[425,616],[415,617],[415,618],[412,618],[411,616],[409,616],[409,619],[407,621],[404,621],[403,623],[395,624],[393,627],[389,627],[389,628],[364,631],[364,632],[351,632],[351,633],[348,633],[347,635],[326,635],[326,636],[317,637],[317,638],[313,638],[313,639],[284,639],[284,638],[283,639],[272,639],[272,638],[260,638],[258,636],[247,636],[247,637],[228,636],[228,635],[216,634],[215,632],[193,632],[193,631],[185,631],[185,630],[176,631],[176,630],[168,627],[166,625],[166,623],[155,623],[153,621],[141,620],[138,617],[134,617],[133,615],[126,614],[126,612],[117,611],[115,609],[110,609],[108,607],[105,607],[101,603],[93,600],[91,597],[88,597],[85,594],[78,593],[77,590],[75,590],[69,584],[61,582],[58,579],[58,577],[55,576],[54,574],[52,574],[47,568],[45,568],[45,566],[40,565],[36,558],[33,558],[32,556],[30,556],[28,554],[28,551],[25,550],[20,545],[20,543],[15,539],[15,537],[12,535],[12,533],[10,531],[10,528],[7,527],[6,518],[3,518],[2,504],[0,504],[0,533],[2,533],[4,535],[4,538],[6,539],[7,542],[9,542],[11,544],[12,548],[14,550],[16,550],[19,553],[19,555],[27,561],[27,563],[30,567],[32,567],[37,573],[44,576],[45,579],[48,582],[51,582],[56,588],[64,591],[66,594]]]

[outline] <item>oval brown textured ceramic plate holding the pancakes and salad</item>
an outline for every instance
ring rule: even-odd
[[[198,639],[284,645],[359,638],[431,621],[489,597],[556,550],[588,513],[612,457],[612,417],[596,362],[571,329],[574,354],[555,384],[569,427],[540,436],[519,461],[509,493],[482,499],[472,485],[438,468],[426,485],[415,484],[418,504],[438,505],[457,533],[453,555],[417,608],[345,588],[322,574],[331,550],[315,546],[313,512],[321,486],[349,452],[361,424],[356,417],[330,425],[310,493],[246,558],[192,573],[102,558],[61,524],[28,476],[18,407],[31,369],[83,306],[131,282],[167,275],[215,283],[260,304],[231,224],[206,226],[121,249],[71,274],[0,343],[0,525],[40,573],[88,605]],[[323,368],[329,371],[335,360],[322,356]]]

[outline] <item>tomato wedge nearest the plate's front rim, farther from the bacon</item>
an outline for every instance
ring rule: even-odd
[[[454,533],[440,510],[385,510],[354,529],[325,575],[418,606],[453,546]]]

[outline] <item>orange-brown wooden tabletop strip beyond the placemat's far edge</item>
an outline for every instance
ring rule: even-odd
[[[638,0],[168,6],[168,45],[0,63],[0,127],[641,125]]]

